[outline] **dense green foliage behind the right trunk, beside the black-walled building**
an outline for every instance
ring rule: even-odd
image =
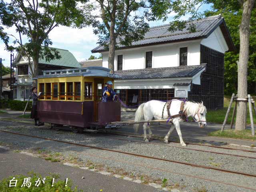
[[[219,8],[219,7],[216,7]],[[237,92],[237,63],[239,59],[239,24],[242,19],[242,9],[239,11],[221,9],[215,11],[206,11],[206,16],[213,16],[222,14],[230,31],[232,40],[236,46],[236,52],[225,53],[225,72],[224,72],[224,92],[225,94],[232,94]],[[249,47],[249,61],[248,61],[248,93],[256,93],[256,10],[252,10],[252,17],[250,20],[250,47]]]

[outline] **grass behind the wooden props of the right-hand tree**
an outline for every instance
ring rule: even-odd
[[[222,124],[224,122],[226,112],[228,110],[228,105],[230,103],[230,97],[224,96],[224,108],[223,109],[218,109],[218,110],[207,110],[206,114],[206,120],[207,122],[214,122],[214,123],[220,123]],[[232,113],[234,110],[235,103],[233,102],[232,108],[230,110],[229,116],[227,123],[231,123],[231,118],[232,118]],[[248,105],[247,105],[248,106]],[[247,107],[247,119],[246,122],[247,124],[250,124],[250,114],[249,114],[249,107]],[[253,111],[254,113],[254,111]],[[234,123],[236,122],[236,116],[234,118]],[[256,122],[256,116],[253,114],[253,122]]]

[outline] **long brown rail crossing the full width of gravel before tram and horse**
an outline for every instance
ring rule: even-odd
[[[158,157],[153,157],[153,156],[146,156],[146,155],[141,155],[141,154],[124,152],[124,151],[120,151],[120,150],[113,150],[113,149],[108,149],[108,148],[102,148],[102,147],[78,144],[78,143],[73,143],[73,142],[68,142],[68,141],[63,141],[63,140],[44,138],[44,137],[28,135],[28,134],[22,134],[22,133],[17,133],[17,132],[10,132],[10,131],[4,131],[4,130],[0,130],[0,131],[1,132],[5,132],[5,133],[10,133],[10,134],[17,134],[17,135],[28,136],[28,137],[33,137],[33,138],[39,138],[39,139],[44,139],[44,140],[56,141],[56,142],[61,142],[61,143],[66,143],[66,144],[71,144],[71,145],[76,145],[76,146],[82,146],[82,147],[88,147],[88,148],[93,148],[93,149],[117,152],[117,153],[126,154],[126,155],[132,155],[132,156],[136,156],[136,157],[149,158],[149,159],[154,159],[154,160],[161,160],[161,161],[166,161],[166,162],[172,162],[172,163],[188,165],[188,166],[192,166],[192,167],[198,167],[198,168],[204,168],[204,169],[209,169],[209,170],[217,170],[217,171],[227,172],[227,173],[232,173],[232,174],[240,174],[240,175],[244,175],[244,176],[256,177],[255,174],[249,174],[249,173],[244,173],[244,172],[237,172],[237,171],[220,169],[220,168],[215,168],[215,167],[210,167],[210,166],[197,165],[197,164],[192,164],[192,163],[187,163],[187,162],[169,160],[169,159],[158,158]]]

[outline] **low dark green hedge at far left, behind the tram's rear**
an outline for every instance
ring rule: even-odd
[[[0,108],[10,108],[12,110],[23,111],[26,107],[27,101],[19,100],[0,100]],[[32,101],[28,102],[27,110],[32,108]]]

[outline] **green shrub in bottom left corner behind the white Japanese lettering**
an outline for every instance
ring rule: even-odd
[[[10,180],[13,179],[18,180],[16,187],[9,187]],[[22,186],[24,178],[30,178],[31,185],[28,188],[27,186]],[[36,181],[40,178],[40,185],[35,186]],[[72,189],[72,181],[68,179],[67,186],[66,181],[64,180],[57,180],[59,178],[58,175],[52,174],[50,176],[46,176],[44,180],[44,184],[42,182],[44,177],[42,177],[40,174],[35,174],[33,172],[29,173],[28,176],[24,175],[16,175],[16,176],[10,176],[9,178],[3,179],[0,181],[0,191],[1,192],[82,192],[82,190],[78,190],[77,187],[74,187]],[[54,178],[54,184],[52,186],[52,179]]]

